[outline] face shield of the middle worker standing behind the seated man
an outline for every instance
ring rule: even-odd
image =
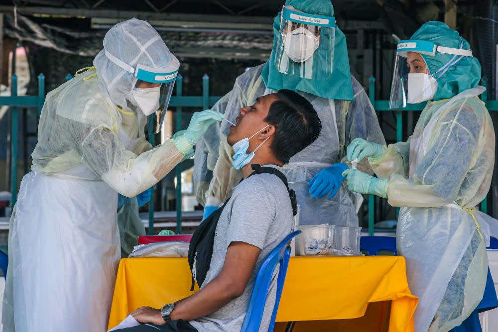
[[[283,7],[275,48],[275,67],[295,77],[330,77],[334,59],[335,18]]]

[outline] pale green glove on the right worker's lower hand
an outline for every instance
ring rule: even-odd
[[[389,179],[376,178],[357,169],[347,169],[343,176],[348,181],[348,189],[360,194],[373,194],[387,198]]]

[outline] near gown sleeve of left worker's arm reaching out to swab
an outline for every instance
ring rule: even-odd
[[[68,121],[73,130],[66,131],[71,136],[67,141],[74,144],[83,164],[126,197],[134,197],[155,185],[183,158],[173,140],[137,156],[125,149],[112,128]]]

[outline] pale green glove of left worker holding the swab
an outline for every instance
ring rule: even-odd
[[[188,154],[192,146],[194,146],[204,135],[209,126],[217,121],[223,120],[224,114],[206,110],[202,112],[195,112],[188,125],[187,130],[183,135],[180,135],[175,140],[175,145],[178,151],[183,154]]]

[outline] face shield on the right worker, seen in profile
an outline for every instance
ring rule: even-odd
[[[462,43],[463,45],[463,43]],[[453,58],[435,73],[421,56],[453,54]],[[389,110],[400,110],[409,104],[418,104],[434,98],[437,80],[465,56],[472,56],[471,50],[437,46],[425,40],[401,40],[396,49],[396,60],[389,99]]]

